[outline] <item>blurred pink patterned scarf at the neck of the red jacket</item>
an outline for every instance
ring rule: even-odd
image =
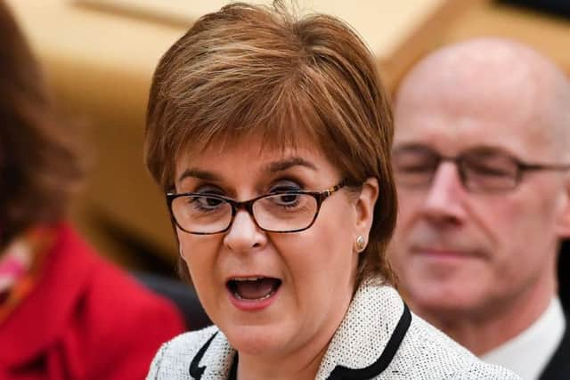
[[[53,227],[33,227],[13,239],[0,253],[0,323],[37,284],[55,235]]]

